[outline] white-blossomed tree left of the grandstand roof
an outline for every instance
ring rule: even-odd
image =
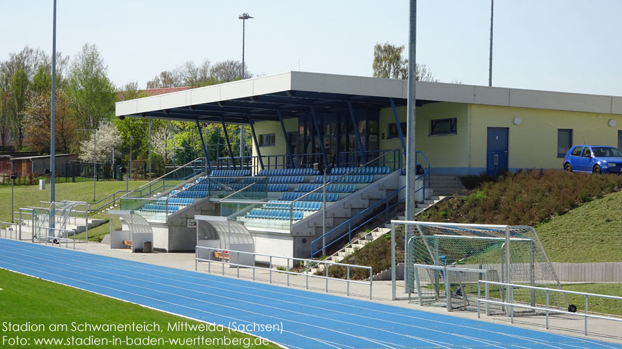
[[[97,144],[95,144],[96,140]],[[112,161],[112,149],[118,148],[119,144],[121,144],[121,133],[119,133],[114,124],[103,121],[97,129],[97,135],[91,133],[89,140],[80,142],[80,155],[78,158],[83,162],[93,162],[94,157],[95,162]]]

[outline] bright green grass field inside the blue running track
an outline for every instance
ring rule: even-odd
[[[0,348],[127,348],[125,342],[113,344],[113,338],[125,341],[126,337],[141,339],[142,341],[151,339],[152,343],[156,343],[148,346],[143,345],[143,347],[148,348],[248,348],[246,343],[250,343],[254,348],[278,348],[273,343],[262,344],[257,337],[234,331],[229,333],[226,329],[210,332],[202,330],[176,331],[169,329],[168,323],[184,321],[196,325],[199,322],[1,269],[0,308]],[[40,324],[44,326],[44,331],[7,331],[4,327],[8,322],[12,324]],[[72,330],[72,323],[88,323],[90,325],[157,323],[159,330],[153,328],[149,332],[136,330],[127,332],[106,332],[103,330],[77,332]],[[53,332],[53,328],[50,326],[55,325],[66,325],[67,329],[60,328],[59,331]],[[15,339],[17,336],[28,341],[28,343],[22,346],[11,345],[8,339]],[[73,339],[71,339],[72,337]],[[198,337],[204,337],[206,340],[211,339],[213,343],[226,343],[218,342],[226,337],[231,341],[238,341],[238,344],[233,345],[231,342],[229,345],[207,346],[205,343],[199,345],[199,342],[195,342],[196,345],[181,346],[168,341],[169,339],[181,339],[192,343]],[[35,343],[35,341],[42,339],[57,339],[62,340],[63,343]],[[89,339],[91,339],[90,344],[87,342],[80,343],[80,341]],[[102,340],[101,344],[96,345],[92,342],[95,339]],[[105,344],[105,340],[107,340],[107,344]],[[164,341],[165,344],[159,345],[157,341],[160,343]]]

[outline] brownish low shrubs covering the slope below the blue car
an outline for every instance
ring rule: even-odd
[[[556,170],[506,173],[495,180],[470,178],[479,185],[465,196],[429,209],[420,220],[453,223],[537,225],[622,187],[622,176]]]

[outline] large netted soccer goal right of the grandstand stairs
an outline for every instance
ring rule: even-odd
[[[403,292],[421,305],[443,306],[448,311],[476,310],[480,280],[561,288],[530,226],[393,220],[391,238],[393,265],[404,265]],[[490,299],[507,301],[504,287],[491,285],[488,291]],[[515,289],[513,294],[515,302],[532,306],[544,303],[545,298],[538,290]],[[502,305],[490,306],[489,313],[506,313]],[[549,306],[567,309],[568,301],[563,294],[555,298],[551,294]]]

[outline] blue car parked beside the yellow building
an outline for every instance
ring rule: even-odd
[[[588,173],[621,173],[622,151],[606,145],[576,145],[566,153],[564,169]]]

